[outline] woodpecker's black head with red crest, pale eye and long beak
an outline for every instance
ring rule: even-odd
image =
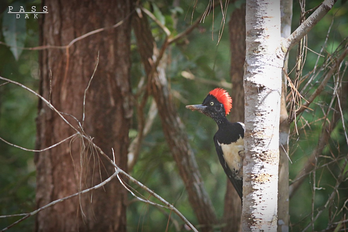
[[[187,109],[197,110],[216,121],[219,117],[225,117],[232,108],[232,98],[226,90],[216,88],[209,92],[200,105],[187,105]]]

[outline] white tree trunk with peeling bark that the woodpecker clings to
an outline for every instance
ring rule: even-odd
[[[246,1],[243,231],[277,230],[279,115],[284,54],[280,3]]]

